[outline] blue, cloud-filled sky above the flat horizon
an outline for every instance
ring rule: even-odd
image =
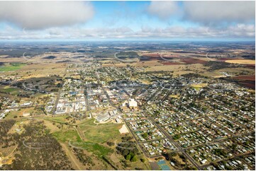
[[[0,40],[255,41],[255,1],[0,1]]]

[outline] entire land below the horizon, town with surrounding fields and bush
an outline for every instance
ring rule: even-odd
[[[0,55],[2,170],[255,168],[254,42],[1,43]]]

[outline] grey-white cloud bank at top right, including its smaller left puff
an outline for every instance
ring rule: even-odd
[[[162,19],[178,13],[183,20],[204,25],[255,21],[255,1],[152,1],[147,11]]]

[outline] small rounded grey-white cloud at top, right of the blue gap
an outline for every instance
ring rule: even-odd
[[[180,12],[177,1],[151,1],[147,11],[161,19],[177,16]]]

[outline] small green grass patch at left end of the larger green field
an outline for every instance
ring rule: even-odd
[[[52,136],[55,136],[57,140],[62,142],[68,142],[68,141],[82,142],[82,139],[78,135],[77,131],[74,129],[56,131],[52,133]]]

